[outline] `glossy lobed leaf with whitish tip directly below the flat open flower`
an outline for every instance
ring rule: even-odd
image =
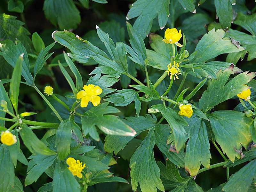
[[[86,111],[84,117],[81,118],[84,134],[87,134],[91,129],[95,130],[95,125],[97,125],[97,127],[106,134],[134,136],[136,132],[117,116],[106,115],[116,112],[116,108],[108,106],[108,103],[102,103]]]

